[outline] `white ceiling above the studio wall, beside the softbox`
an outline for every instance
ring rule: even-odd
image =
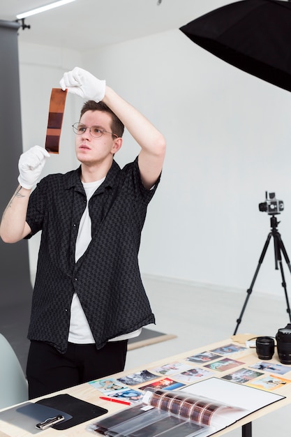
[[[52,0],[51,0],[52,1]],[[0,20],[15,21],[17,13],[38,8],[50,0],[1,2]],[[19,30],[19,40],[92,50],[179,27],[230,3],[225,0],[75,0],[31,17]]]

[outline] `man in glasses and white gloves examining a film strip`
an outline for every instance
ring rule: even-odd
[[[73,125],[80,168],[44,177],[32,190],[50,155],[39,146],[26,151],[0,225],[7,243],[42,231],[28,333],[30,399],[122,371],[128,338],[154,323],[137,254],[165,139],[82,68],[60,84],[89,99]],[[141,151],[121,170],[114,154],[124,126]]]

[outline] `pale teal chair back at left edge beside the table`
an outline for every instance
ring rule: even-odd
[[[0,334],[0,408],[28,400],[28,385],[22,366],[10,343]]]

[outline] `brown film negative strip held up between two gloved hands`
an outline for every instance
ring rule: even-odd
[[[50,108],[47,120],[47,136],[45,149],[51,154],[59,154],[59,138],[63,124],[67,90],[53,88],[50,95]]]

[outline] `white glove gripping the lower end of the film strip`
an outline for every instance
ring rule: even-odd
[[[47,158],[50,158],[50,154],[40,146],[33,146],[31,149],[24,151],[18,162],[18,170],[20,171],[18,182],[23,188],[29,190],[36,184]]]

